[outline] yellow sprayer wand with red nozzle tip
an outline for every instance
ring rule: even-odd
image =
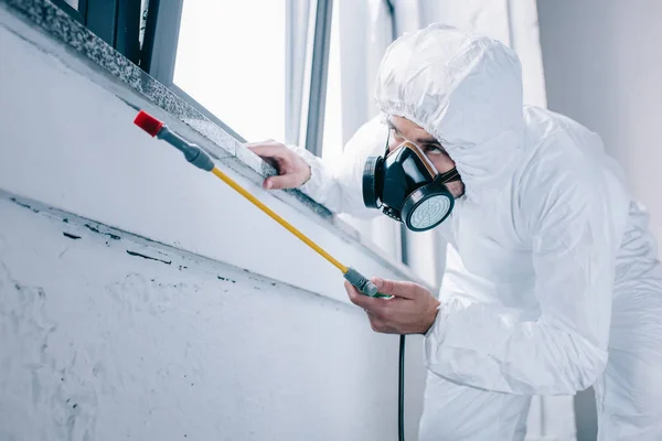
[[[231,179],[227,174],[223,173],[218,168],[214,165],[214,162],[210,158],[210,155],[202,150],[200,147],[186,142],[182,137],[170,130],[162,121],[159,121],[151,115],[147,114],[143,110],[140,110],[134,122],[140,127],[142,130],[151,135],[152,137],[157,137],[175,147],[179,151],[184,154],[186,161],[192,163],[199,169],[202,169],[207,172],[212,172],[216,175],[221,181],[225,182],[227,185],[233,187],[237,193],[252,202],[255,206],[266,213],[269,217],[280,224],[288,232],[297,236],[301,241],[317,251],[320,256],[327,259],[331,265],[338,268],[343,277],[352,283],[359,291],[361,291],[365,295],[370,297],[387,297],[380,294],[377,292],[377,287],[372,283],[366,277],[361,275],[361,272],[356,271],[352,267],[346,267],[342,265],[338,259],[327,252],[322,247],[312,241],[308,236],[298,230],[295,226],[292,226],[289,222],[284,219],[280,215],[274,212],[271,208],[266,206],[261,201],[250,194],[246,189],[242,187],[237,184],[233,179]]]

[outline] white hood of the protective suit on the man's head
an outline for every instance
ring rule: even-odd
[[[441,142],[470,198],[510,178],[524,135],[522,73],[502,43],[442,24],[405,34],[384,55],[375,99]]]

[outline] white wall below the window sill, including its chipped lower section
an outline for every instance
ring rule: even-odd
[[[338,270],[136,128],[136,108],[342,261],[414,277],[2,4],[0,53],[0,439],[397,438],[397,336],[370,330]]]

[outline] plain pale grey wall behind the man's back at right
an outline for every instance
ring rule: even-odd
[[[662,240],[662,2],[538,0],[548,108],[602,137]],[[575,399],[577,439],[595,440],[592,389]]]

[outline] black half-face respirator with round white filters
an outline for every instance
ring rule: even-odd
[[[369,157],[363,170],[363,203],[382,209],[413,232],[441,224],[452,211],[455,198],[447,183],[459,181],[456,169],[439,173],[425,152],[405,141],[383,157]]]

